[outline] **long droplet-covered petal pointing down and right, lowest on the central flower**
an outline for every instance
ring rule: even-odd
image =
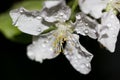
[[[88,74],[91,71],[90,61],[93,55],[79,43],[78,35],[69,38],[64,54],[78,72]]]

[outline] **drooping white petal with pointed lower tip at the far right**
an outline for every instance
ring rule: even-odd
[[[112,11],[104,13],[101,25],[98,25],[98,41],[109,51],[114,52],[120,22]]]

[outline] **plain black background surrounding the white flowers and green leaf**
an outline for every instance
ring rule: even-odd
[[[3,0],[0,13],[18,1],[21,0]],[[26,55],[28,44],[12,42],[0,33],[0,80],[120,80],[120,34],[114,53],[88,37],[81,36],[80,42],[94,55],[92,71],[87,75],[74,70],[62,54],[42,64],[31,61]]]

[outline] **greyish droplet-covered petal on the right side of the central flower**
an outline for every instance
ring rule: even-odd
[[[87,17],[83,13],[78,13],[76,15],[76,22],[74,24],[75,31],[78,34],[81,34],[83,36],[89,36],[93,39],[97,38],[96,34],[96,25],[98,23],[95,22],[95,20],[92,20],[91,18]]]

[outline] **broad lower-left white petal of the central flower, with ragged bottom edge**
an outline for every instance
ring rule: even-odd
[[[58,54],[54,53],[54,37],[49,33],[44,36],[34,36],[33,44],[27,48],[27,55],[30,59],[43,62],[44,59],[55,58]]]

